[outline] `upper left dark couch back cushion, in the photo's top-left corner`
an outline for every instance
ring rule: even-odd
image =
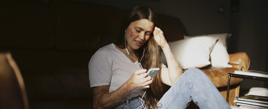
[[[0,3],[0,48],[55,48],[54,24],[47,2],[38,0]]]

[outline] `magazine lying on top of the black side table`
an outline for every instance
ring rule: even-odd
[[[235,70],[234,74],[268,78],[268,72],[255,71],[255,70],[248,70],[248,71]]]

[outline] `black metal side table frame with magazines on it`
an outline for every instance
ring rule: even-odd
[[[248,76],[248,75],[241,75],[241,74],[234,74],[234,73],[228,73],[228,74],[229,74],[229,77],[228,77],[227,97],[226,97],[227,103],[229,103],[229,91],[230,91],[230,79],[231,79],[231,77],[268,82],[268,78],[265,78],[265,77],[255,77],[255,76]]]

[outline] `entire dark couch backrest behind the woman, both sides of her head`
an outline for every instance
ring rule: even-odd
[[[124,10],[65,0],[5,1],[0,6],[0,51],[10,51],[19,67],[88,68],[99,48],[116,42]],[[183,39],[179,18],[157,14],[167,41]]]

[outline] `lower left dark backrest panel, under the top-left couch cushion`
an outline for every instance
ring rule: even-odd
[[[57,50],[1,49],[11,52],[20,68],[64,68],[61,53]]]

